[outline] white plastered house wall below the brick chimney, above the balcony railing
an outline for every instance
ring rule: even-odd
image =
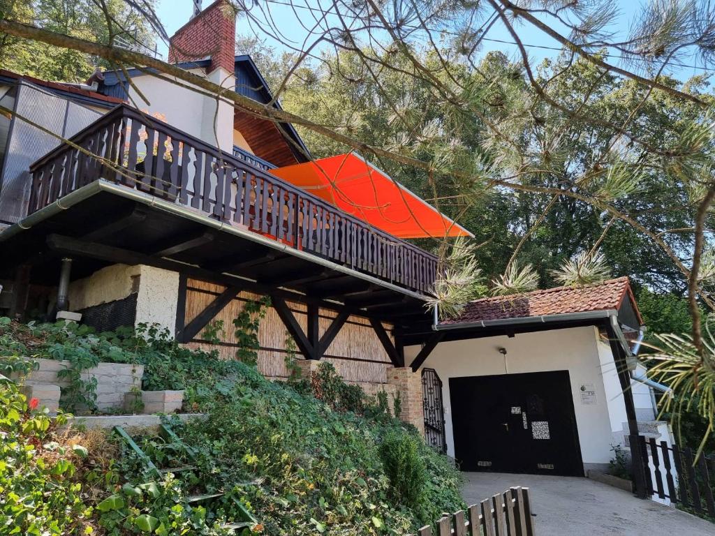
[[[224,69],[215,69],[208,76],[203,69],[191,69],[189,72],[204,76],[215,84],[230,89],[235,88],[236,79],[233,73]],[[129,89],[129,104],[139,109],[156,114],[158,119],[166,121],[181,131],[201,139],[225,152],[233,148],[233,107],[217,99],[204,96],[169,80],[159,79],[150,74],[136,76],[132,79],[144,97],[144,101],[134,87]],[[180,84],[186,84],[179,81]],[[204,91],[204,90],[200,90]],[[218,116],[216,108],[219,107]],[[216,126],[216,131],[214,129]]]

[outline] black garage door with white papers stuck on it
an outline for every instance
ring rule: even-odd
[[[568,371],[450,378],[464,471],[583,476]]]

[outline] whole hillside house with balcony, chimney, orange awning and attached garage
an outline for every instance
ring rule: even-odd
[[[224,6],[179,29],[169,60],[280,106],[235,55]],[[623,329],[642,322],[626,279],[480,300],[434,324],[438,259],[406,239],[468,232],[357,155],[314,162],[290,124],[145,69],[80,85],[5,71],[0,104],[14,111],[0,117],[0,312],[158,324],[206,347],[209,323],[270,296],[263,374],[287,376],[290,335],[302,369],[322,359],[399,393],[401,417],[469,470],[583,475],[623,423],[654,419],[631,379]]]

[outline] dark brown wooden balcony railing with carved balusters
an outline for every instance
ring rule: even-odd
[[[29,212],[97,179],[428,292],[437,259],[245,160],[119,105],[32,164]]]

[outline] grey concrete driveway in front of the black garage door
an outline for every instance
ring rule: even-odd
[[[537,536],[714,536],[715,524],[587,478],[463,473],[468,505],[529,488]]]

